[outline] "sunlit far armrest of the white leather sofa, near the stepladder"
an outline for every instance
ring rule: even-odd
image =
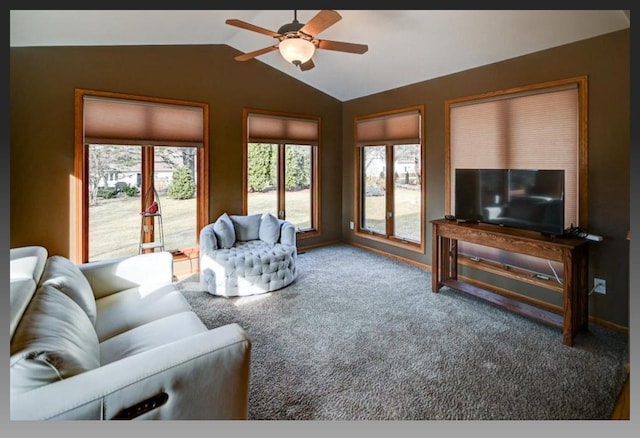
[[[100,260],[78,265],[96,298],[137,286],[173,281],[173,256],[168,251]]]

